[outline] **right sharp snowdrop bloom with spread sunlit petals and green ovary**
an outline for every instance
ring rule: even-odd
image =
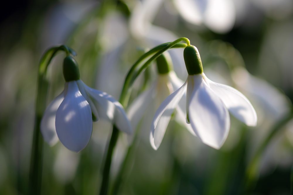
[[[233,87],[215,83],[203,73],[195,46],[184,49],[188,72],[185,83],[160,105],[151,123],[151,145],[161,144],[166,127],[178,102],[186,92],[186,122],[203,143],[219,149],[229,132],[229,112],[248,126],[257,123],[256,112],[249,100]],[[185,91],[186,90],[186,91]]]

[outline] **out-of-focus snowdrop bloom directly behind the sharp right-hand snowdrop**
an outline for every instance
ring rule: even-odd
[[[158,77],[151,85],[151,87],[140,94],[133,103],[129,106],[127,115],[130,118],[132,129],[136,129],[138,123],[142,118],[143,124],[142,134],[147,132],[149,136],[150,123],[152,116],[154,116],[156,110],[160,104],[169,96],[174,90],[179,89],[184,83],[180,80],[176,73],[173,71],[173,65],[171,56],[164,52],[156,59]],[[185,101],[180,102],[176,107],[175,119],[178,123],[185,126],[192,134],[194,134],[191,126],[185,122]],[[148,118],[151,116],[151,118]],[[145,125],[146,124],[146,125]],[[154,146],[153,146],[154,147]]]

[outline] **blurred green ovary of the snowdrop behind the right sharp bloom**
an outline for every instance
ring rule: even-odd
[[[173,70],[173,63],[168,52],[164,52],[156,59],[158,73],[163,75]]]

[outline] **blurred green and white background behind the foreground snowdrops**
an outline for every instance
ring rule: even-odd
[[[231,116],[220,150],[170,122],[158,151],[139,135],[122,183],[113,194],[289,194],[293,162],[292,0],[6,1],[0,16],[0,194],[26,194],[38,63],[51,46],[77,52],[81,79],[119,99],[131,65],[150,49],[187,37],[207,77],[245,94],[258,115],[247,127]],[[187,72],[183,49],[174,70]],[[58,54],[48,70],[48,102],[64,87]],[[131,101],[156,79],[139,78]],[[131,102],[130,102],[131,103]],[[127,108],[126,108],[127,110]],[[144,119],[143,119],[144,120]],[[140,127],[138,127],[140,128]],[[143,129],[143,128],[142,128]],[[44,143],[42,194],[97,194],[111,124],[93,125],[79,153]],[[127,150],[121,134],[111,165],[113,186]]]

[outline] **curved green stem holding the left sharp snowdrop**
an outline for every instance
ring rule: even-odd
[[[45,51],[38,69],[37,96],[35,105],[35,125],[31,151],[28,194],[40,194],[42,183],[42,149],[43,139],[40,134],[40,123],[46,108],[49,82],[46,79],[47,68],[58,51],[65,51],[66,55],[76,55],[75,51],[65,45],[52,47]]]

